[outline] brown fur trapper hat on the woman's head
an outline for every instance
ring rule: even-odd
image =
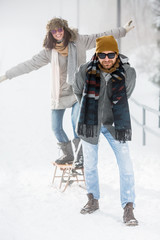
[[[77,35],[78,35],[78,30],[69,28],[67,20],[64,20],[62,18],[51,19],[46,26],[46,30],[47,30],[47,33],[48,33],[49,31],[51,31],[55,28],[60,28],[60,27],[63,27],[64,29],[66,29],[71,34],[70,41],[73,41],[73,42],[76,41]]]

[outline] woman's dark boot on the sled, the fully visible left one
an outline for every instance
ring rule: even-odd
[[[58,158],[55,162],[57,164],[72,164],[74,160],[73,150],[71,141],[57,143],[63,152],[63,155]]]

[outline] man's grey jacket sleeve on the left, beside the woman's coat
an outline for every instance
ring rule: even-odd
[[[86,74],[87,64],[80,66],[78,72],[75,74],[75,79],[73,83],[73,92],[76,95],[78,102],[81,102],[83,88],[85,83],[85,74]]]

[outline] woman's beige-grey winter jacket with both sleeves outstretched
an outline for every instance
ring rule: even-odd
[[[72,86],[66,83],[66,77],[72,76],[74,77],[75,72],[71,68],[72,62],[76,62],[76,67],[86,62],[86,51],[92,49],[96,45],[96,38],[105,36],[105,35],[113,35],[115,38],[124,37],[126,35],[126,30],[121,28],[116,28],[110,31],[106,31],[99,34],[92,35],[77,35],[76,41],[73,43],[75,46],[75,55],[77,59],[73,59],[72,57],[69,60],[68,57],[63,57],[59,54],[59,68],[60,68],[60,101],[57,109],[65,109],[67,107],[71,107],[77,100],[74,96]],[[25,61],[23,63],[18,64],[17,66],[9,69],[5,75],[7,78],[12,79],[19,75],[29,73],[33,70],[37,70],[48,63],[51,63],[51,54],[52,50],[43,49],[38,54],[32,57],[32,59]],[[70,63],[70,66],[69,66]],[[76,71],[76,69],[75,69]],[[52,92],[52,89],[51,89]],[[55,109],[54,102],[51,101],[51,109]]]

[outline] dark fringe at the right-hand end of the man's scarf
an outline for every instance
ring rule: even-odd
[[[115,138],[116,140],[125,143],[126,141],[131,141],[132,130],[124,129],[124,130],[115,130]]]

